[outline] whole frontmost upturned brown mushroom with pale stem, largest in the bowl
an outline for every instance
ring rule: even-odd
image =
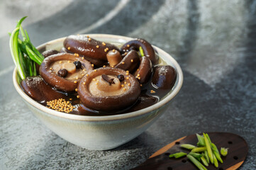
[[[102,79],[102,74],[113,79],[114,84]],[[120,74],[124,75],[124,81],[117,78]],[[135,103],[140,95],[140,84],[132,74],[126,75],[123,69],[101,67],[82,78],[78,94],[81,102],[88,108],[97,111],[117,111]]]

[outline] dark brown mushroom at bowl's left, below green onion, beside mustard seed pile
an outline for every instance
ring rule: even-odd
[[[45,84],[45,81],[40,76],[26,77],[26,79],[21,81],[21,88],[30,98],[42,104],[58,98],[67,98],[65,94],[61,94],[52,89],[52,86]]]

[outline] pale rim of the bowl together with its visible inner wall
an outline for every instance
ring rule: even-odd
[[[120,35],[106,35],[106,34],[89,34],[91,38],[95,38],[96,40],[104,41],[104,42],[110,42],[112,44],[115,44],[117,46],[120,46],[124,44],[125,42],[132,40],[133,38],[127,38]],[[65,38],[59,38],[56,40],[52,40],[50,42],[46,42],[43,45],[38,46],[38,50],[44,51],[44,50],[60,50],[63,47],[63,41]],[[130,118],[138,115],[142,115],[144,113],[148,113],[151,111],[156,110],[157,108],[160,108],[161,106],[164,106],[166,103],[168,103],[174,96],[177,95],[179,90],[182,87],[183,83],[183,74],[182,69],[179,67],[179,64],[172,58],[167,52],[161,50],[159,47],[156,47],[152,45],[155,50],[157,51],[158,55],[160,56],[160,64],[169,64],[177,71],[177,80],[174,84],[174,87],[172,88],[169,93],[162,98],[159,102],[155,103],[154,105],[143,108],[139,111],[134,111],[130,113],[123,113],[118,115],[103,115],[103,116],[91,116],[91,115],[72,115],[69,113],[62,113],[58,111],[54,111],[50,108],[46,108],[45,106],[42,106],[40,103],[37,103],[32,98],[27,96],[25,92],[21,89],[21,86],[19,86],[18,82],[18,74],[16,69],[13,71],[13,84],[16,88],[16,91],[18,91],[18,94],[21,95],[23,100],[28,102],[30,105],[34,106],[35,108],[40,109],[41,111],[44,111],[45,113],[49,113],[52,115],[57,115],[62,118],[69,118],[73,120],[87,120],[87,121],[101,121],[101,120],[118,120],[123,118]]]

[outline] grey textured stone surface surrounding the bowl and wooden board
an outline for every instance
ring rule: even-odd
[[[74,146],[45,128],[12,85],[7,33],[22,16],[35,45],[74,33],[145,38],[169,52],[184,85],[146,132],[110,151]],[[233,132],[256,169],[256,1],[1,0],[0,169],[130,169],[196,132]]]

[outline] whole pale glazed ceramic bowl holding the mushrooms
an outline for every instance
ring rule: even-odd
[[[114,44],[123,44],[133,39],[119,35],[91,34],[89,36],[96,40]],[[46,42],[45,44],[40,45],[38,50],[60,50],[64,40],[65,38],[59,38],[57,40]],[[18,94],[21,95],[23,101],[25,101],[28,108],[30,108],[35,116],[63,139],[87,149],[113,149],[133,140],[133,138],[137,137],[150,127],[150,125],[165,112],[169,101],[177,95],[182,87],[183,74],[179,64],[168,55],[167,52],[164,52],[158,47],[153,47],[157,50],[158,55],[162,60],[177,70],[177,81],[174,84],[172,91],[170,91],[165,98],[162,98],[162,100],[155,103],[155,105],[140,111],[106,116],[85,116],[61,113],[46,108],[27,96],[17,82],[16,69],[13,71],[13,84],[16,91],[18,91]]]

